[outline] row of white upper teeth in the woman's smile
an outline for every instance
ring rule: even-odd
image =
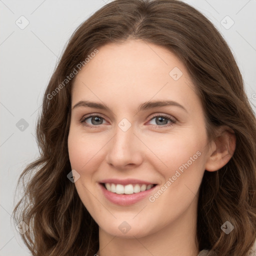
[[[132,193],[138,193],[140,191],[145,191],[153,187],[153,184],[127,184],[125,186],[121,184],[114,184],[114,183],[105,183],[105,188],[108,191],[111,191],[113,193],[117,194],[132,194]]]

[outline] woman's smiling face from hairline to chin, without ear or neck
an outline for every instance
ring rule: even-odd
[[[173,53],[141,40],[98,48],[76,74],[71,107],[74,184],[101,230],[143,237],[195,224],[208,141],[201,102]]]

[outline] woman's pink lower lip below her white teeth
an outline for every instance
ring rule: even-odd
[[[152,190],[157,186],[153,186],[148,190],[141,191],[138,193],[132,193],[132,194],[117,194],[113,193],[111,191],[108,191],[104,185],[99,184],[101,187],[101,190],[105,197],[112,203],[119,204],[119,205],[131,205],[133,203],[136,203],[142,199],[144,199],[146,196],[149,196]]]

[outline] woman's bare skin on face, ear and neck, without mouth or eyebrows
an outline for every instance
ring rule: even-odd
[[[209,142],[200,99],[185,66],[167,49],[141,40],[106,44],[75,76],[71,106],[80,100],[103,103],[111,111],[76,107],[71,112],[68,152],[79,197],[99,225],[100,256],[191,255],[199,252],[195,240],[198,189],[203,173],[216,171],[231,157],[235,137],[226,127],[225,137]],[[182,71],[174,80],[169,72]],[[149,100],[173,100],[174,105],[137,111]],[[95,125],[92,118],[102,117]],[[163,124],[155,115],[176,120]],[[118,123],[131,124],[123,131]],[[97,126],[96,128],[89,125]],[[125,124],[127,125],[127,124]],[[228,143],[228,139],[231,142]],[[153,202],[148,197],[128,206],[108,201],[98,182],[105,178],[137,178],[158,184],[152,195],[187,163],[176,180]],[[126,221],[130,229],[118,226]]]

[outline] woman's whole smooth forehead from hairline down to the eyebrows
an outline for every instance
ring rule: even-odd
[[[98,53],[78,72],[73,83],[72,101],[83,96],[97,100],[113,97],[116,100],[118,96],[123,103],[152,97],[180,101],[189,100],[189,97],[196,99],[187,70],[175,54],[142,40],[99,47]]]

